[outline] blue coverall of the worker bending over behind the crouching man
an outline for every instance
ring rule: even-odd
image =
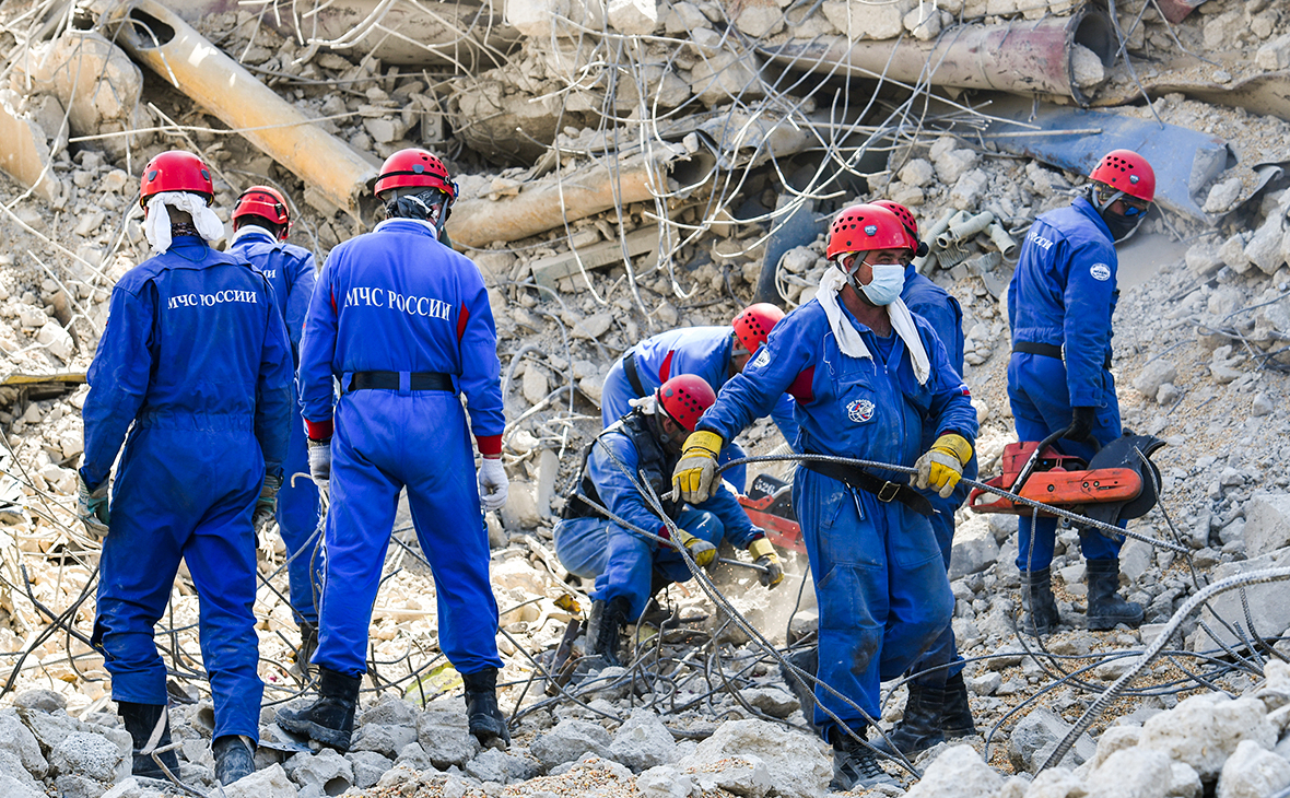
[[[605,387],[600,394],[601,423],[609,427],[623,418],[632,411],[630,400],[644,398],[677,374],[695,374],[707,380],[713,391],[720,391],[730,379],[730,352],[734,349],[734,331],[730,327],[681,327],[640,342],[623,352],[605,375]],[[628,355],[636,357],[636,374],[645,393],[637,392],[627,378],[623,358]],[[779,397],[770,411],[770,418],[784,440],[791,446],[796,445],[797,422],[793,420],[791,396]],[[728,442],[717,463],[725,464],[746,456],[748,455],[742,446]],[[721,478],[742,494],[748,483],[748,467],[735,465],[721,472]]]

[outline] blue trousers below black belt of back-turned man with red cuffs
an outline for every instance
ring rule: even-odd
[[[440,650],[461,673],[501,668],[475,455],[462,402],[445,391],[355,391],[337,404],[313,664],[366,672],[368,625],[404,487],[435,576]]]

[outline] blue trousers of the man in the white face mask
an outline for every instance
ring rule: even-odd
[[[898,501],[799,468],[793,507],[815,575],[819,670],[829,687],[881,717],[878,686],[893,679],[940,636],[955,610],[946,566],[928,520]],[[823,687],[814,723],[829,740],[836,723],[860,732],[863,715]]]

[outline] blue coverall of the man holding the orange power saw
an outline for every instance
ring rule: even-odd
[[[1095,407],[1098,446],[1120,437],[1120,402],[1111,362],[1111,316],[1116,289],[1115,242],[1106,222],[1084,197],[1041,215],[1026,233],[1007,290],[1013,357],[1007,398],[1017,436],[1041,441],[1071,425],[1072,407]],[[1017,352],[1019,342],[1064,347],[1064,358]],[[1087,460],[1096,447],[1060,438],[1057,449]],[[1019,517],[1017,567],[1040,571],[1053,562],[1057,518]],[[1033,540],[1033,544],[1032,544]],[[1086,560],[1118,560],[1120,540],[1080,531]],[[1033,548],[1033,550],[1032,550]]]

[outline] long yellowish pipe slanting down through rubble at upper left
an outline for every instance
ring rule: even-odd
[[[368,215],[374,156],[324,131],[160,3],[121,8],[116,40],[130,55],[304,180],[311,204]]]

